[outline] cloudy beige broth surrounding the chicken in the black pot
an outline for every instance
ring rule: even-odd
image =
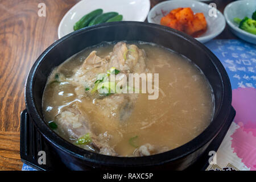
[[[184,56],[151,44],[134,44],[146,53],[147,72],[159,73],[159,97],[156,100],[148,100],[148,93],[137,94],[129,117],[121,121],[115,118],[115,113],[101,114],[102,110],[112,108],[95,106],[97,97],[79,97],[76,86],[68,80],[50,84],[56,72],[71,77],[93,50],[98,56],[105,57],[113,49],[113,45],[93,47],[71,57],[49,76],[43,95],[46,122],[56,121],[62,108],[75,104],[86,115],[92,133],[111,136],[108,145],[119,156],[137,156],[138,148],[147,143],[157,149],[153,154],[164,152],[197,137],[213,117],[214,99],[207,78]],[[113,96],[109,98],[114,99]],[[60,129],[55,131],[72,143],[76,140]],[[90,146],[81,147],[96,151]]]

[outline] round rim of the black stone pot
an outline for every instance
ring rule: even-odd
[[[38,114],[39,112],[35,106],[34,100],[34,80],[35,80],[35,73],[38,71],[39,65],[47,55],[49,51],[51,51],[55,46],[64,42],[71,38],[72,36],[84,34],[88,31],[93,31],[98,28],[106,28],[111,26],[122,26],[123,24],[128,24],[129,26],[146,26],[148,28],[156,28],[160,31],[169,32],[180,38],[184,39],[185,41],[190,42],[193,46],[197,46],[202,51],[207,53],[209,56],[210,61],[212,61],[213,65],[215,65],[218,75],[221,77],[222,80],[222,100],[221,106],[218,110],[218,113],[215,114],[212,122],[209,126],[196,138],[192,139],[188,143],[183,144],[180,147],[174,148],[173,150],[163,152],[160,154],[150,155],[150,156],[142,156],[142,157],[123,157],[123,156],[108,156],[97,154],[94,152],[90,152],[84,150],[80,147],[75,146],[74,144],[68,142],[67,140],[61,138],[58,134],[56,134],[53,130],[49,128],[43,118],[40,117]],[[225,102],[224,102],[225,100]],[[44,51],[38,59],[35,61],[34,65],[31,68],[31,71],[27,77],[26,88],[25,88],[25,101],[26,106],[28,109],[28,113],[31,115],[35,126],[38,128],[40,133],[52,144],[54,144],[57,148],[64,152],[68,152],[70,155],[75,156],[76,158],[80,158],[81,160],[86,160],[91,163],[97,163],[99,165],[104,166],[125,166],[125,167],[133,167],[133,166],[152,166],[152,165],[160,165],[163,163],[171,162],[173,160],[183,158],[191,154],[192,152],[197,151],[199,148],[203,147],[207,144],[211,139],[213,139],[218,132],[220,131],[221,127],[224,124],[226,117],[228,117],[230,108],[231,108],[231,101],[232,101],[232,92],[231,92],[231,85],[229,81],[228,74],[225,71],[225,68],[221,64],[220,60],[202,43],[198,42],[196,39],[188,36],[182,32],[176,31],[172,28],[168,28],[165,26],[160,26],[158,24],[153,23],[144,23],[144,22],[112,22],[112,23],[102,23],[96,26],[82,28],[81,30],[72,32],[64,36],[63,38],[57,40],[51,46],[49,46],[46,51]]]

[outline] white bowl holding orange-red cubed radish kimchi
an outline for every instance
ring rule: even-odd
[[[204,14],[205,19],[207,20],[207,31],[199,38],[196,38],[201,43],[208,42],[209,40],[215,38],[224,30],[226,26],[225,18],[220,11],[216,10],[216,15],[209,16],[209,10],[212,7],[209,7],[209,5],[203,2],[191,0],[173,0],[159,3],[150,10],[147,16],[147,21],[150,23],[160,24],[160,20],[164,15],[178,7],[191,7],[194,13]]]

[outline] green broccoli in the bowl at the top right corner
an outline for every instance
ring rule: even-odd
[[[240,29],[256,35],[256,10],[254,11],[254,13],[251,17],[253,19],[250,19],[247,16],[243,19],[234,18],[234,22],[239,24]]]

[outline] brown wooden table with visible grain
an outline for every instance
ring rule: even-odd
[[[217,9],[232,0],[213,1]],[[38,4],[46,3],[46,17]],[[20,170],[20,112],[25,109],[24,85],[36,58],[57,40],[57,27],[79,0],[0,0],[0,170]],[[160,2],[151,0],[151,7]],[[236,39],[225,28],[218,39]]]

